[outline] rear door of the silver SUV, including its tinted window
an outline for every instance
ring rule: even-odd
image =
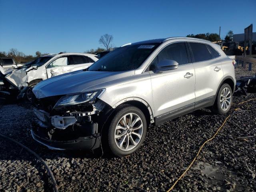
[[[189,42],[196,76],[196,104],[210,104],[223,77],[220,54],[210,45]],[[211,51],[210,51],[211,50]]]

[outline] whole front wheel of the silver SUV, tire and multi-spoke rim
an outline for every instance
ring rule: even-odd
[[[119,109],[108,128],[108,146],[115,156],[127,156],[138,150],[146,136],[146,118],[134,106]]]

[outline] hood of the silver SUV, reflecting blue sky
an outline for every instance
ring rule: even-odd
[[[134,75],[134,71],[104,72],[79,70],[44,80],[33,88],[33,93],[38,99],[74,94],[82,92],[91,86],[131,75]]]

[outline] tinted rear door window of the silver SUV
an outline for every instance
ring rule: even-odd
[[[206,44],[204,43],[189,43],[192,49],[192,53],[194,56],[194,62],[206,61],[212,59],[212,55],[210,54]]]

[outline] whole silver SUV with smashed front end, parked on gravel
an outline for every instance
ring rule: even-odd
[[[33,138],[58,150],[103,146],[116,156],[138,150],[150,125],[212,106],[226,114],[236,84],[220,47],[194,38],[126,44],[86,70],[33,89]]]

